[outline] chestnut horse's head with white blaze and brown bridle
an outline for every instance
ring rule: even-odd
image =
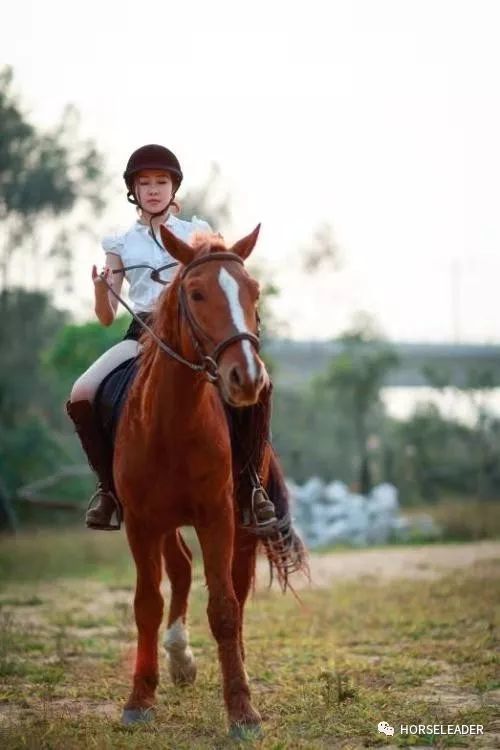
[[[227,248],[216,235],[195,235],[188,245],[160,227],[163,244],[184,266],[171,289],[178,296],[182,350],[215,361],[221,395],[231,406],[256,403],[269,382],[258,355],[259,285],[243,266],[259,229]]]

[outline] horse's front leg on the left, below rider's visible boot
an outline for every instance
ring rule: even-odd
[[[132,724],[152,718],[158,685],[158,630],[163,616],[162,537],[155,530],[129,523],[127,536],[137,569],[134,610],[138,638],[134,683],[122,721]]]

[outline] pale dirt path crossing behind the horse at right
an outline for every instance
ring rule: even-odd
[[[437,580],[453,570],[468,568],[473,571],[476,563],[483,560],[500,560],[500,542],[348,550],[330,555],[311,555],[311,580],[315,587],[359,578],[370,578],[374,582],[395,578]],[[259,582],[264,583],[266,576],[267,567],[263,564],[259,571]],[[305,581],[294,576],[295,588],[305,585]]]

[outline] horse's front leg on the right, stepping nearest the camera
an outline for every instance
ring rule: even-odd
[[[260,715],[250,701],[250,688],[240,650],[241,615],[231,577],[234,519],[232,498],[208,525],[197,526],[208,585],[208,620],[219,647],[224,700],[231,734],[260,733]]]

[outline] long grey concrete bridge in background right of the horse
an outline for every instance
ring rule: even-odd
[[[449,385],[464,387],[471,371],[489,372],[500,386],[500,345],[394,343],[400,363],[389,373],[384,386],[429,386],[425,369],[437,371]],[[291,341],[266,344],[264,352],[275,363],[273,379],[285,388],[298,388],[319,375],[342,351],[338,341]]]

